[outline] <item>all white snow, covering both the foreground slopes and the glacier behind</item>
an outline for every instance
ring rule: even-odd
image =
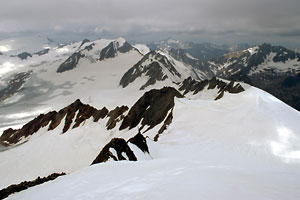
[[[87,57],[96,58],[109,42],[94,41],[97,51],[86,52]],[[0,128],[20,126],[77,98],[98,109],[114,109],[131,107],[152,88],[178,87],[158,82],[140,91],[137,82],[121,88],[123,74],[142,58],[137,51],[101,62],[82,59],[73,70],[57,74],[58,66],[79,45],[22,63],[11,61],[34,72],[23,93],[1,103]],[[186,69],[173,62],[176,69]],[[226,93],[218,101],[212,98],[216,91],[207,89],[175,99],[171,125],[158,142],[147,139],[150,155],[130,144],[137,162],[89,166],[112,138],[127,140],[137,129],[118,131],[118,124],[107,131],[106,120],[87,120],[65,134],[62,126],[50,132],[45,127],[24,144],[0,152],[0,189],[63,171],[69,174],[7,199],[300,199],[300,113],[262,90],[242,86],[245,92]],[[26,88],[37,93],[26,93]],[[145,135],[151,137],[154,131]]]

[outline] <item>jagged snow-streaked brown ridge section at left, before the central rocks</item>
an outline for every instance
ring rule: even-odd
[[[48,126],[48,130],[54,130],[61,123],[64,123],[63,133],[65,133],[70,128],[80,126],[85,120],[91,117],[93,117],[96,122],[106,117],[107,114],[108,110],[105,107],[102,110],[97,110],[92,106],[81,103],[81,101],[77,99],[74,103],[58,112],[51,111],[47,114],[40,114],[25,124],[21,129],[10,128],[5,130],[0,136],[0,142],[4,145],[16,144],[21,138],[27,138],[45,126]],[[62,122],[63,119],[65,119],[64,122]],[[74,125],[71,127],[73,122]]]

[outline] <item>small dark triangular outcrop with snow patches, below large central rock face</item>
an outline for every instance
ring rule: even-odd
[[[113,152],[111,152],[111,148],[116,151],[117,155],[114,155]],[[114,138],[107,145],[105,145],[96,159],[92,162],[92,165],[106,162],[109,159],[113,159],[115,161],[127,160],[122,154],[126,154],[128,160],[130,161],[137,161],[137,158],[128,146],[127,142],[123,138]]]

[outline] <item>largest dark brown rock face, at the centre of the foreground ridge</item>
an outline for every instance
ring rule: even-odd
[[[160,124],[174,107],[174,97],[183,96],[172,87],[146,92],[129,110],[120,130],[136,127],[141,122],[140,129],[148,125],[148,129]]]

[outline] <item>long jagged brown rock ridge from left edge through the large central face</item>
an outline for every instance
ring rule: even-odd
[[[174,97],[183,97],[176,89],[165,87],[160,90],[146,92],[128,111],[127,106],[116,107],[114,110],[107,110],[105,107],[98,110],[90,105],[83,104],[79,99],[69,106],[47,114],[40,114],[20,129],[9,128],[0,136],[0,143],[3,145],[13,145],[26,139],[43,127],[48,127],[48,131],[63,125],[62,133],[69,129],[77,128],[87,119],[92,118],[94,122],[108,118],[107,130],[114,129],[120,124],[119,130],[138,127],[142,130],[148,126],[148,130],[163,122],[158,135],[161,134],[172,121],[172,110],[174,107]],[[144,131],[144,132],[146,132]],[[157,140],[158,136],[156,137]]]

